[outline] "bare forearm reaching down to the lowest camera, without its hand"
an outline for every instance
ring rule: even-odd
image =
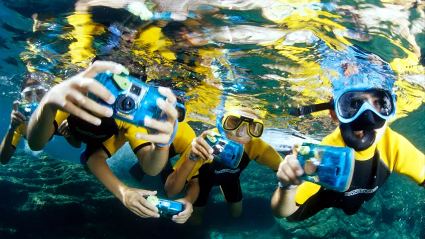
[[[97,180],[99,180],[114,196],[122,201],[122,192],[127,186],[110,170],[106,163],[106,157],[91,156],[87,164],[91,172],[94,176],[96,176]]]

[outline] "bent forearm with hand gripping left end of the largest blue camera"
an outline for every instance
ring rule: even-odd
[[[128,70],[120,64],[95,61],[81,73],[55,85],[44,95],[28,123],[27,140],[31,150],[43,149],[53,135],[55,130],[53,121],[59,109],[95,125],[100,124],[100,118],[86,110],[99,116],[112,116],[112,109],[94,102],[86,95],[86,92],[93,93],[109,104],[115,101],[109,90],[93,79],[97,73],[106,70],[115,74],[123,71],[128,73]]]

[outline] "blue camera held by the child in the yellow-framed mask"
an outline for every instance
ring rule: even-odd
[[[221,164],[236,168],[243,155],[243,145],[232,140],[228,140],[220,135],[206,135],[205,141],[214,150],[212,155],[214,160]]]

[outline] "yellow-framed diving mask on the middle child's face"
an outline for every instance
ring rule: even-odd
[[[237,130],[242,124],[245,124],[250,136],[260,137],[264,129],[264,122],[261,119],[245,117],[234,112],[227,112],[223,118],[223,128],[227,131]]]

